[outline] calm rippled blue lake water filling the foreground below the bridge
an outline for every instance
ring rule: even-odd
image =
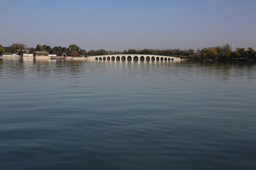
[[[256,170],[256,63],[0,59],[0,170]]]

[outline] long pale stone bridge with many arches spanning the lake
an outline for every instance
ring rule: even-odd
[[[88,59],[95,60],[134,60],[134,61],[173,61],[181,60],[178,57],[159,56],[159,55],[141,55],[141,54],[119,54],[119,55],[102,55],[102,56],[91,56]]]

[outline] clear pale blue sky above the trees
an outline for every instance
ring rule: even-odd
[[[256,0],[0,0],[0,44],[256,50]]]

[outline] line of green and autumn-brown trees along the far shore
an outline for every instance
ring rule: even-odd
[[[20,51],[24,48],[27,48],[26,44],[22,43],[13,43],[9,47],[3,47],[0,45],[0,54],[4,54],[5,52],[17,53],[17,50]],[[231,58],[248,58],[248,59],[256,59],[256,51],[249,47],[247,50],[245,48],[236,48],[235,51],[231,50],[229,44],[225,44],[223,46],[216,47],[208,47],[203,48],[201,50],[194,51],[193,49],[181,50],[181,49],[128,49],[124,51],[111,51],[111,50],[90,50],[86,51],[81,49],[75,44],[69,45],[69,47],[61,47],[55,46],[51,48],[48,45],[40,45],[38,44],[35,48],[31,48],[30,53],[34,51],[47,51],[50,54],[56,54],[57,56],[61,56],[62,53],[66,53],[68,56],[99,56],[99,55],[114,55],[114,54],[148,54],[148,55],[163,55],[163,56],[175,56],[180,57],[182,59],[231,59]],[[21,51],[22,52],[22,51]]]

